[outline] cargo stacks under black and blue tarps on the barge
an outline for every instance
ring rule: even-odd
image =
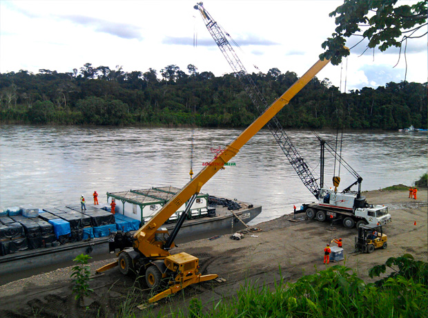
[[[0,209],[0,256],[139,229],[138,220],[113,215],[106,209],[88,206],[81,211],[80,205],[44,209],[23,205]]]

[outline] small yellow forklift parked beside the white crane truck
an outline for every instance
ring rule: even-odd
[[[387,234],[382,231],[382,225],[362,225],[358,227],[356,251],[373,253],[377,248],[387,248]]]

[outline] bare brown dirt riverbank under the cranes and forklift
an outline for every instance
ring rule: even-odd
[[[93,294],[84,303],[77,303],[71,294],[70,268],[59,268],[0,286],[0,317],[117,317],[121,310],[127,309],[135,310],[137,317],[147,317],[157,315],[159,310],[166,313],[172,308],[185,308],[194,297],[202,303],[217,302],[235,294],[246,282],[273,285],[281,277],[295,281],[304,274],[324,269],[325,244],[339,237],[343,239],[345,254],[345,261],[340,264],[355,269],[364,281],[370,281],[369,268],[385,263],[391,256],[410,253],[427,261],[427,190],[418,191],[418,200],[408,198],[407,191],[379,190],[364,195],[369,203],[389,207],[393,222],[384,227],[388,235],[386,250],[356,254],[353,253],[355,228],[349,230],[329,222],[291,222],[293,216],[282,216],[256,225],[262,232],[246,234],[240,241],[225,235],[212,241],[204,239],[179,245],[173,254],[185,251],[197,256],[204,274],[218,274],[226,282],[208,281],[189,286],[148,311],[136,308],[149,296],[148,290],[144,290],[144,279],[136,280],[135,275],[124,277],[114,268],[94,277],[90,281]],[[109,261],[91,263],[91,272]],[[133,290],[137,295],[135,303],[128,303],[127,296]]]

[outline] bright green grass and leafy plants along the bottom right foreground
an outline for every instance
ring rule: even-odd
[[[386,267],[392,268],[393,274],[375,283],[364,283],[343,265],[304,276],[295,283],[277,281],[273,288],[246,283],[235,297],[217,301],[210,308],[195,298],[188,308],[168,317],[428,317],[428,264],[407,254],[378,265],[371,270],[371,277],[380,277]],[[158,317],[164,315],[162,312]]]

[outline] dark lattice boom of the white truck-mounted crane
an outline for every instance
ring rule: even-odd
[[[211,15],[205,10],[202,2],[197,3],[194,8],[200,11],[202,19],[204,19],[204,24],[213,37],[215,43],[222,51],[224,57],[226,58],[228,64],[231,66],[235,74],[246,93],[249,95],[251,102],[253,102],[255,108],[259,113],[262,113],[266,106],[268,106],[263,94],[257,88],[255,82],[247,73],[244,64],[240,61],[239,57],[233,50],[233,47],[228,42],[226,35],[224,34],[222,28],[217,24],[217,22],[211,17]],[[289,160],[291,166],[298,174],[302,183],[311,191],[311,193],[318,198],[320,194],[320,186],[317,183],[317,180],[314,178],[309,166],[302,156],[300,156],[298,150],[294,147],[294,144],[291,142],[288,135],[286,135],[282,125],[276,117],[273,117],[270,122],[266,124],[271,131],[276,142],[279,144],[282,152],[284,152],[286,158]]]

